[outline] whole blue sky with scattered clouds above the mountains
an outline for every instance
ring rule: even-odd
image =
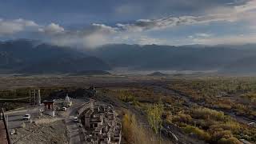
[[[256,0],[0,0],[0,40],[60,46],[256,42]]]

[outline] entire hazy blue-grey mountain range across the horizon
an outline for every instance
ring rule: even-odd
[[[0,42],[0,72],[5,74],[70,74],[118,67],[254,74],[256,45],[110,44],[95,49],[78,49],[27,39]]]

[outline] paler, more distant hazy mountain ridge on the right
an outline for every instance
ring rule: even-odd
[[[239,48],[240,47],[240,48]],[[253,46],[108,45],[90,54],[111,66],[141,70],[220,70],[238,59],[256,55]]]

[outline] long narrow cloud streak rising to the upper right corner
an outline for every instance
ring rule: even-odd
[[[181,17],[166,17],[158,19],[139,19],[134,23],[118,23],[117,26],[122,30],[127,31],[143,31],[143,30],[159,30],[173,26],[195,25],[210,22],[236,22],[240,19],[255,18],[252,10],[256,10],[256,1],[248,1],[241,6],[226,6],[217,7],[210,10],[211,14],[202,16],[181,16]]]

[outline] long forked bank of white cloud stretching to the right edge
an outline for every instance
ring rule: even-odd
[[[252,14],[250,11],[254,10],[254,6],[251,5],[254,3],[255,2],[246,2],[242,6],[234,6],[233,8],[228,8],[228,10],[220,10],[222,12],[226,11],[226,13],[206,14],[202,16],[169,16],[157,19],[138,19],[135,22],[117,23],[114,26],[93,23],[83,30],[65,30],[65,32],[51,38],[51,41],[57,45],[75,45],[90,48],[108,43],[135,43],[140,45],[172,44],[171,42],[176,42],[174,39],[172,41],[167,41],[167,38],[152,38],[146,35],[146,33],[152,30],[165,30],[174,26],[202,25],[209,24],[210,22],[238,22],[245,18],[251,20]],[[250,8],[245,8],[247,6]],[[232,42],[232,38],[236,42],[250,42],[251,40],[254,40],[254,38],[248,38],[247,40],[246,38],[241,38],[244,41],[239,41],[237,37],[214,38],[213,34],[206,33],[190,35],[189,38],[192,39],[193,43],[198,42],[201,44]],[[191,42],[188,39],[186,40],[187,42]],[[175,44],[177,44],[177,42]]]

